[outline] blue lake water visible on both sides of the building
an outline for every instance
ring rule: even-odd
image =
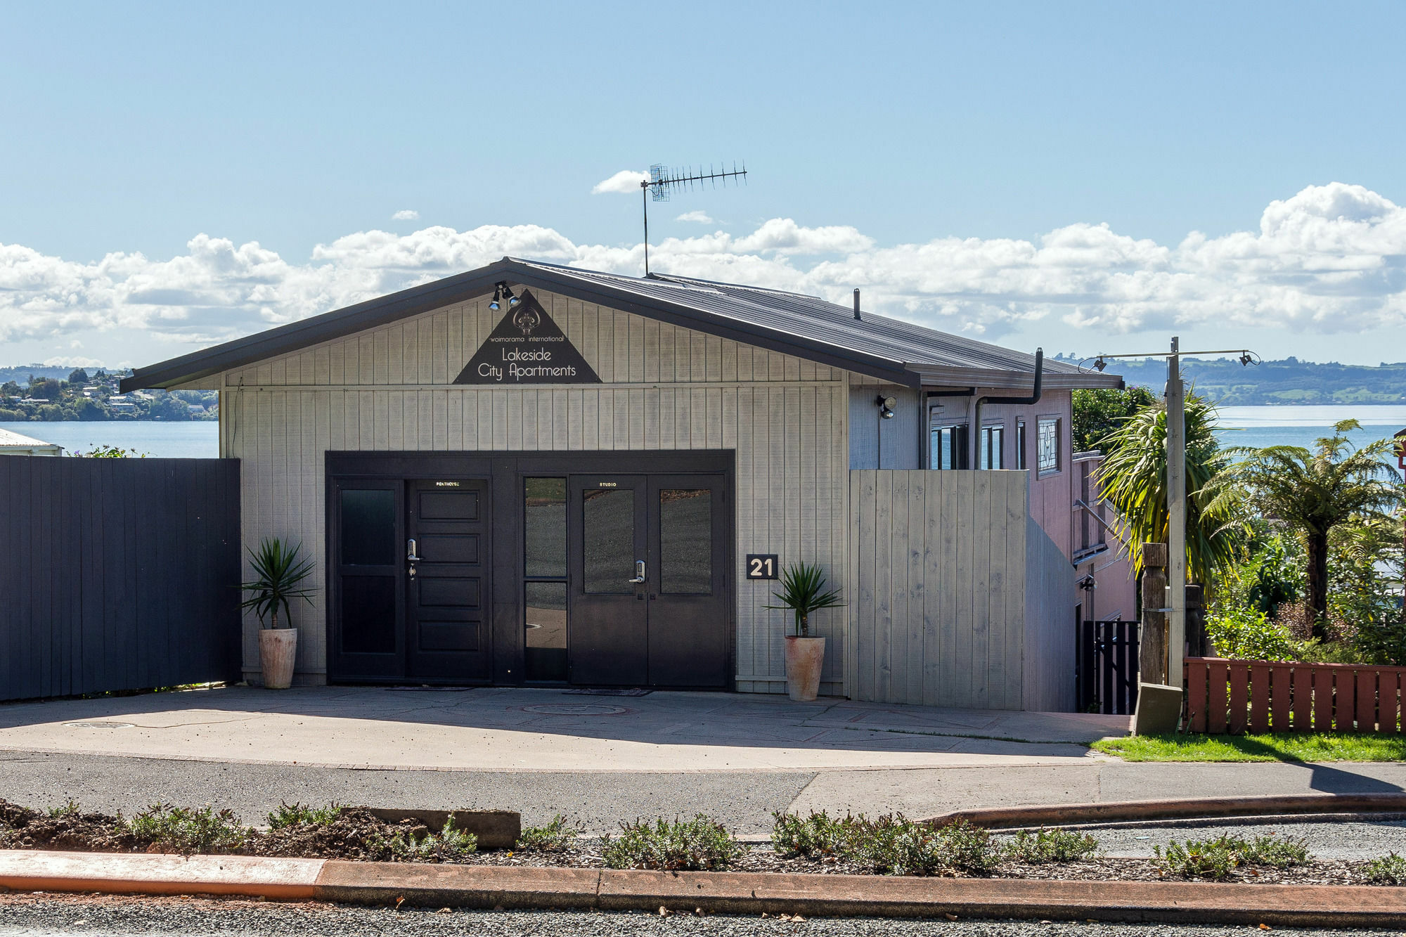
[[[1357,419],[1362,429],[1351,435],[1357,445],[1392,436],[1406,428],[1406,407],[1222,407],[1220,440],[1226,446],[1306,446],[1329,436],[1340,419]],[[214,421],[162,423],[153,421],[0,423],[0,429],[42,439],[66,452],[94,446],[135,449],[163,459],[214,459],[219,454],[219,425]]]

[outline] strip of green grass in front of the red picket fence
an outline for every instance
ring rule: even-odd
[[[1406,739],[1375,733],[1128,736],[1090,747],[1126,761],[1406,761]]]

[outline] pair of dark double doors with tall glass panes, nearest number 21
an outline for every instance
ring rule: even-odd
[[[568,667],[586,685],[728,682],[720,476],[572,476]]]

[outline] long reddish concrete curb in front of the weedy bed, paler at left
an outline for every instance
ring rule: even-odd
[[[1406,888],[413,865],[0,851],[13,891],[214,893],[475,909],[1406,927]]]

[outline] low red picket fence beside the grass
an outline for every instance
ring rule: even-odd
[[[1406,667],[1187,657],[1192,732],[1402,732]]]

